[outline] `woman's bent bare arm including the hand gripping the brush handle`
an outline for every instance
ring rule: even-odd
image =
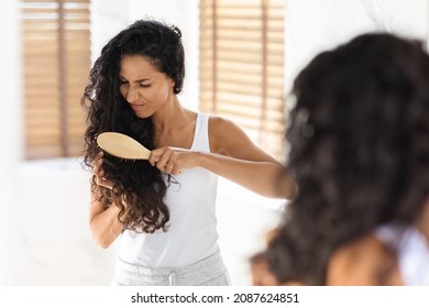
[[[211,153],[162,147],[152,151],[150,163],[172,175],[204,167],[265,197],[295,196],[296,184],[284,166],[258,148],[238,125],[212,117],[209,134]]]

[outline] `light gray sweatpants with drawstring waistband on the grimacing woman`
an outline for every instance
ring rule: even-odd
[[[230,278],[220,251],[187,266],[144,267],[118,260],[116,286],[228,286]]]

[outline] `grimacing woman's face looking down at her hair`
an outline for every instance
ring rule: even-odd
[[[174,80],[140,55],[123,56],[119,90],[139,118],[148,118],[170,101]]]

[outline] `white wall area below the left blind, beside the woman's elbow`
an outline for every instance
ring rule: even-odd
[[[92,241],[89,177],[77,158],[24,163],[19,168],[20,285],[106,285],[114,251]]]

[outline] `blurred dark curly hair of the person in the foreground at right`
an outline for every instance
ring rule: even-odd
[[[316,56],[292,97],[286,169],[299,193],[287,212],[304,250],[333,250],[391,220],[415,222],[429,196],[421,42],[360,35]]]

